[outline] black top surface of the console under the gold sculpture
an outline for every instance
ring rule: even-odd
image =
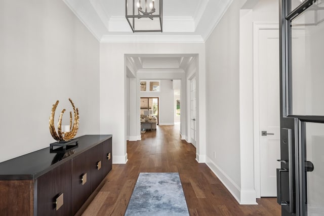
[[[64,161],[70,160],[111,137],[112,135],[85,135],[76,138],[77,146],[70,145],[66,150],[63,150],[62,147],[54,147],[51,150],[48,147],[4,161],[0,163],[0,180],[36,179]]]

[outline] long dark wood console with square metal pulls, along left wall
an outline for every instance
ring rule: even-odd
[[[112,135],[77,139],[0,163],[0,215],[79,214],[111,170]]]

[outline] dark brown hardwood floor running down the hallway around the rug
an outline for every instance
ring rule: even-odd
[[[127,164],[113,164],[107,182],[83,215],[124,215],[139,172],[179,172],[190,215],[281,215],[276,198],[239,205],[195,148],[180,140],[179,126],[159,126],[127,142]]]

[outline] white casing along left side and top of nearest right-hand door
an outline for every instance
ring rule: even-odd
[[[256,198],[261,197],[261,166],[260,166],[260,87],[259,87],[259,31],[279,30],[278,23],[253,23],[253,124],[254,124],[254,184]],[[278,34],[279,37],[279,34]],[[278,54],[279,58],[279,54]],[[279,72],[279,68],[278,68]],[[278,98],[279,99],[279,98]]]

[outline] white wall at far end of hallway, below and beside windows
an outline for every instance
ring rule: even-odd
[[[172,80],[160,80],[160,92],[141,92],[140,97],[158,98],[158,124],[174,125],[174,107],[173,107],[173,86]]]

